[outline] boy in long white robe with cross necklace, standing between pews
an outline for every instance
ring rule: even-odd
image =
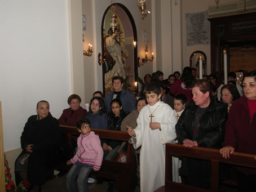
[[[136,135],[140,149],[140,191],[153,192],[165,185],[165,144],[176,139],[176,117],[168,104],[160,101],[156,83],[147,84],[144,94],[148,105],[140,110],[137,127],[127,126],[130,136]]]

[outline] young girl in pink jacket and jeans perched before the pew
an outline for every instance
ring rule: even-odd
[[[88,119],[78,120],[77,130],[81,135],[77,139],[76,155],[67,162],[68,165],[74,165],[67,174],[66,185],[68,192],[87,192],[89,191],[88,176],[92,169],[99,171],[103,159],[103,149],[100,145],[99,136],[91,131]]]

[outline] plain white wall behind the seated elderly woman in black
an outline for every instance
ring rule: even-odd
[[[67,0],[1,1],[0,100],[4,150],[20,136],[39,100],[59,118],[70,95]]]

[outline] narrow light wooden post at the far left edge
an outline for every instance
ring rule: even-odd
[[[0,191],[5,191],[5,160],[3,155],[2,102],[0,101]]]

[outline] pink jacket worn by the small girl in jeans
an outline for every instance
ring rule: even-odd
[[[98,135],[91,131],[90,135],[80,135],[77,139],[77,153],[70,161],[90,164],[96,170],[100,169],[103,159],[103,149]]]

